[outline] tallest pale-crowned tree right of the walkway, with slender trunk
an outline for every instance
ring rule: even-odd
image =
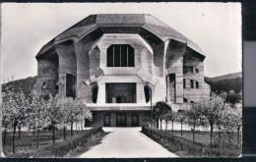
[[[209,122],[212,145],[214,126],[221,117],[220,112],[224,109],[224,96],[222,94],[218,95],[212,92],[209,98],[205,98],[200,101],[200,109],[202,110],[202,115],[204,115]]]

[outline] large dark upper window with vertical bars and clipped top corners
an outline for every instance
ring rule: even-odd
[[[134,49],[129,44],[113,44],[107,48],[107,67],[134,67]]]

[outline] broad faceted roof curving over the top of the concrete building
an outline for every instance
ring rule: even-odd
[[[36,57],[51,49],[54,44],[58,44],[68,39],[78,42],[82,37],[96,30],[98,27],[143,27],[157,35],[162,41],[168,39],[181,41],[186,43],[192,50],[204,55],[204,52],[197,44],[151,15],[98,14],[90,15],[78,24],[57,35],[40,49]]]

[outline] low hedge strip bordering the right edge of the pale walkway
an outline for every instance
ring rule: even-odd
[[[183,152],[182,155],[204,157],[204,156],[238,156],[238,152],[229,149],[210,148],[202,143],[193,142],[183,137],[166,134],[160,130],[142,127],[142,132],[158,141],[162,146],[173,153]]]

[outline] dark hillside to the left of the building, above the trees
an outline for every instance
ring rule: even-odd
[[[29,77],[27,79],[9,81],[2,84],[2,89],[5,89],[7,85],[13,84],[15,91],[19,91],[21,89],[28,97],[31,94],[32,86],[36,83],[36,80],[36,77]]]

